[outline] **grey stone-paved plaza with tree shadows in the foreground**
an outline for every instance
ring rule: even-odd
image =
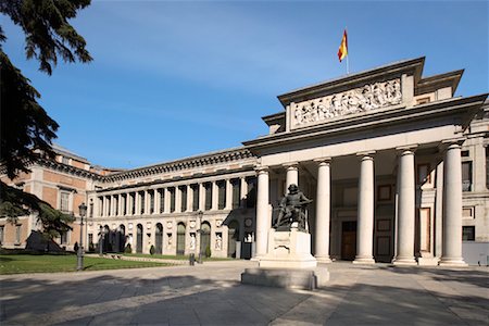
[[[7,325],[489,325],[489,268],[336,262],[327,288],[241,285],[249,261],[0,276]]]

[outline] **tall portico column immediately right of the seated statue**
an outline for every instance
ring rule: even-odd
[[[317,196],[316,196],[316,229],[315,256],[318,262],[330,263],[329,258],[329,218],[330,218],[330,159],[316,161]]]

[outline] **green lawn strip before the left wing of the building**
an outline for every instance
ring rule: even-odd
[[[167,266],[165,263],[133,262],[85,256],[84,271]],[[0,254],[0,274],[75,272],[76,255]]]

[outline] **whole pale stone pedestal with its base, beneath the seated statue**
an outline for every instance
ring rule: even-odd
[[[326,267],[317,267],[311,254],[311,235],[291,228],[290,231],[268,231],[267,253],[258,268],[247,268],[241,283],[283,288],[313,290],[329,280]]]

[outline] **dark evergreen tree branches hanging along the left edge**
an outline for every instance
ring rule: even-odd
[[[85,39],[68,23],[90,0],[0,0],[0,12],[24,30],[27,59],[39,61],[39,70],[52,74],[60,57],[64,62],[90,62]],[[53,156],[52,140],[58,123],[37,102],[40,93],[3,52],[5,41],[0,26],[0,166],[14,179],[41,156]],[[0,216],[14,221],[38,212],[43,234],[52,239],[71,229],[73,216],[54,210],[34,195],[0,183]]]

